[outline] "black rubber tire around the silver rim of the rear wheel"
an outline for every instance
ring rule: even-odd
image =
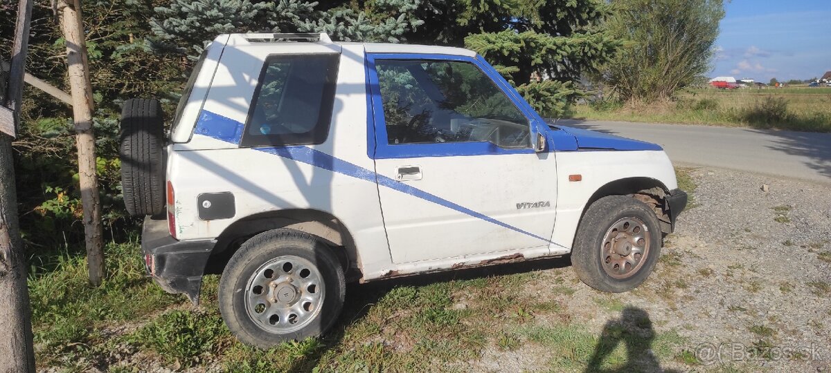
[[[252,316],[249,316],[251,313],[248,311],[249,294],[247,289],[250,288],[252,281],[269,282],[272,279],[268,277],[268,279],[263,280],[259,277],[263,266],[268,268],[268,264],[274,263],[275,260],[294,257],[305,259],[316,267],[317,274],[322,277],[323,286],[322,292],[320,292],[322,300],[317,303],[319,311],[317,311],[317,308],[312,310],[312,312],[317,312],[310,313],[306,320],[297,324],[297,327],[300,327],[299,329],[291,332],[280,332],[268,328],[262,321],[258,322]],[[280,281],[280,276],[291,277],[292,272],[277,273],[283,267],[278,266],[278,268],[273,271],[273,276],[276,276],[275,279],[269,283],[269,285],[277,286],[277,288],[269,289],[263,286],[260,293],[257,294],[261,294],[263,288],[265,288],[264,291],[268,293],[263,297],[274,297],[275,299],[279,297],[277,289],[282,285],[273,285],[273,283]],[[298,274],[302,276],[302,271]],[[297,288],[295,290],[297,290],[297,297],[304,295],[304,290]],[[257,295],[257,297],[259,296]],[[219,280],[219,311],[222,312],[225,324],[228,325],[229,330],[234,333],[239,341],[260,348],[268,348],[280,342],[300,341],[307,337],[321,336],[337,321],[337,317],[343,308],[345,296],[346,281],[343,268],[332,249],[312,235],[297,230],[269,230],[253,236],[234,253],[234,256],[225,266],[222,278]],[[302,300],[295,299],[295,303]],[[268,312],[272,312],[272,310],[281,307],[288,309],[291,306],[268,303],[265,307],[263,315],[268,316]],[[298,318],[302,320],[302,317],[296,319]],[[275,328],[278,327],[280,326],[275,325]]]

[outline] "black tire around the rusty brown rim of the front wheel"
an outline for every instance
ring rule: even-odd
[[[642,230],[643,233],[640,237],[647,239],[645,240],[646,245],[644,245],[646,249],[641,248],[642,251],[645,251],[645,254],[639,257],[637,264],[629,267],[631,270],[628,274],[619,274],[614,272],[615,269],[609,268],[615,265],[612,258],[620,260],[623,257],[613,256],[618,254],[608,254],[609,251],[606,248],[611,247],[614,250],[616,247],[620,247],[622,250],[626,250],[625,253],[628,255],[632,254],[632,245],[630,244],[629,249],[627,249],[626,238],[622,238],[622,245],[620,246],[614,246],[617,243],[612,244],[612,242],[617,241],[604,240],[604,238],[607,237],[607,233],[614,235],[617,232],[620,235],[620,232],[615,229],[623,226],[622,224],[628,221],[643,223],[645,228]],[[627,234],[631,235],[631,232],[623,232],[622,237],[628,237]],[[631,236],[634,237],[634,235]],[[655,268],[658,257],[661,256],[661,240],[661,225],[657,216],[655,216],[655,212],[647,204],[629,196],[605,196],[588,206],[583,219],[580,220],[571,256],[574,272],[577,273],[583,283],[597,290],[609,293],[622,293],[632,290],[646,281],[649,274],[652,274],[652,269]],[[606,246],[607,243],[612,245]],[[604,264],[604,262],[607,264]],[[625,267],[630,264],[623,265]],[[628,277],[615,278],[609,273],[610,271],[617,276]]]

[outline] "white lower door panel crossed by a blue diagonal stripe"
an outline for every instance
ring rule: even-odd
[[[445,143],[453,147],[452,143]],[[407,184],[532,235],[379,187],[394,263],[548,247],[553,206],[518,209],[528,201],[557,201],[557,165],[551,153],[377,159],[379,175],[418,162],[423,177]]]

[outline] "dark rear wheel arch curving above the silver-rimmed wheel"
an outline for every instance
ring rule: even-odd
[[[347,279],[360,278],[360,257],[352,234],[331,213],[312,209],[264,211],[234,221],[217,237],[205,267],[205,274],[220,274],[239,246],[254,235],[267,230],[288,228],[314,235],[340,259]]]

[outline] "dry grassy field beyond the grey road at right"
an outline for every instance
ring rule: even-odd
[[[687,90],[669,103],[578,104],[567,117],[831,132],[831,87]]]

